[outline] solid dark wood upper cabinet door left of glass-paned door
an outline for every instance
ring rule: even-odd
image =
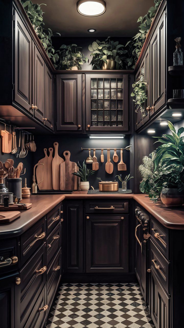
[[[82,130],[82,74],[56,76],[57,131]]]

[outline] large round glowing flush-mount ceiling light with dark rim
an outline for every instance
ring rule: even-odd
[[[79,0],[77,11],[84,16],[99,16],[106,10],[106,3],[103,0]]]

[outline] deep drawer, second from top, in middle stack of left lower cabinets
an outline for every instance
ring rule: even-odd
[[[17,327],[23,328],[46,283],[46,244],[29,259],[19,277],[21,283],[15,287],[15,321]]]

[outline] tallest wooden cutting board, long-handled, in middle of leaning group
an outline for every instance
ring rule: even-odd
[[[58,142],[54,142],[55,154],[52,160],[52,185],[54,190],[60,189],[60,164],[64,162],[64,159],[58,155],[58,146]]]

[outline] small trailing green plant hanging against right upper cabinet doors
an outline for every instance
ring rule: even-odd
[[[147,86],[148,84],[144,81],[144,69],[142,68],[138,81],[132,84],[134,90],[131,93],[131,97],[135,97],[133,99],[135,102],[135,112],[137,113],[140,107],[143,117],[146,116],[145,101],[147,100]]]

